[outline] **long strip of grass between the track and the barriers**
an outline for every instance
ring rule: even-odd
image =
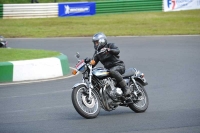
[[[193,35],[200,34],[200,10],[135,12],[90,17],[2,19],[1,34],[16,37]]]

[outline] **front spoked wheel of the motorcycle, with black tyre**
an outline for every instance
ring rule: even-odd
[[[72,91],[72,103],[76,111],[84,118],[91,119],[98,116],[100,112],[100,103],[97,94],[92,91],[92,97],[86,92],[87,88],[80,85]]]

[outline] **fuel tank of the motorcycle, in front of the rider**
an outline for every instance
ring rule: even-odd
[[[104,79],[109,76],[109,70],[103,67],[94,68],[92,74],[98,77],[99,79]]]

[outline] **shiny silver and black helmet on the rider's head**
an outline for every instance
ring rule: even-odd
[[[97,33],[92,37],[92,42],[94,43],[94,48],[100,50],[107,44],[107,38],[104,33]],[[98,45],[96,45],[98,43]]]

